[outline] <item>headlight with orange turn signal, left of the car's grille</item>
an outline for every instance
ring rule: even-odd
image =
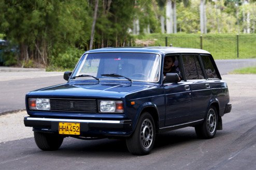
[[[49,111],[51,109],[50,99],[45,98],[29,98],[30,110]]]

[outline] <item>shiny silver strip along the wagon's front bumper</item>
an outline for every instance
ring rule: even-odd
[[[65,122],[88,122],[88,123],[121,123],[119,120],[83,120],[83,119],[54,119],[54,118],[37,118],[27,117],[27,120],[39,121],[65,121]]]

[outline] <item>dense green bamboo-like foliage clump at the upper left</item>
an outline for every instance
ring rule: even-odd
[[[90,22],[87,2],[1,0],[1,4],[1,30],[19,44],[23,63],[31,59],[46,66],[49,56],[58,57],[88,34],[82,29]]]

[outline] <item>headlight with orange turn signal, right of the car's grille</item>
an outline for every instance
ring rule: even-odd
[[[112,100],[100,100],[99,112],[103,113],[123,113],[123,102]]]

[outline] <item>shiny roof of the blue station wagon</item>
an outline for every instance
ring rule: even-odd
[[[208,51],[201,49],[179,48],[179,47],[125,47],[125,48],[101,48],[87,51],[86,53],[103,53],[103,52],[146,52],[158,54],[171,54],[171,53],[200,53],[210,54]]]

